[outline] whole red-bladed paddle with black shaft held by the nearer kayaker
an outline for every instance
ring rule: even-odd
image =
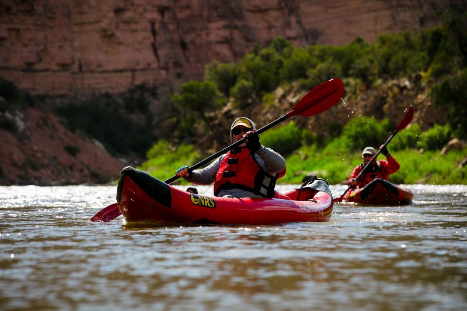
[[[316,86],[313,88],[311,91],[305,94],[304,97],[302,97],[297,104],[293,107],[292,110],[287,112],[284,116],[280,117],[276,121],[272,121],[268,125],[263,126],[259,130],[256,130],[254,134],[251,135],[259,135],[266,130],[270,129],[274,125],[279,124],[282,121],[285,121],[288,118],[291,118],[295,115],[303,116],[303,117],[310,117],[317,115],[319,113],[322,113],[323,111],[326,111],[327,109],[331,108],[335,104],[339,103],[341,101],[342,95],[344,94],[344,86],[342,84],[341,79],[335,78],[331,79],[329,81],[326,81],[319,86]],[[251,136],[250,135],[250,136]],[[224,149],[216,152],[214,155],[211,155],[204,160],[196,163],[192,167],[189,168],[190,171],[196,170],[202,165],[212,161],[216,157],[223,155],[227,151],[231,150],[232,148],[235,148],[242,143],[245,142],[247,138],[242,138],[233,144],[231,144],[228,147],[225,147]],[[171,184],[180,177],[177,175],[174,175],[164,181],[167,184]],[[120,216],[120,210],[118,209],[118,205],[116,203],[109,205],[108,207],[103,208],[101,211],[99,211],[97,214],[94,215],[90,219],[92,222],[109,222],[112,219]]]

